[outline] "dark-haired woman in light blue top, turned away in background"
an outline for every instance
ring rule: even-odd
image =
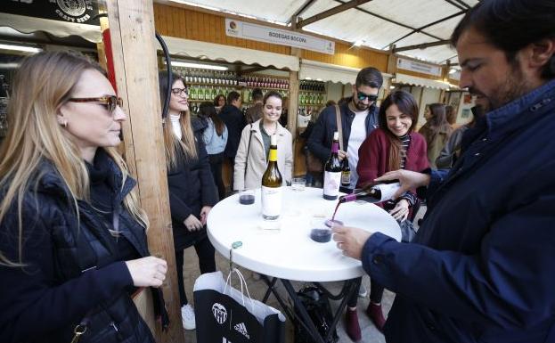
[[[207,118],[207,125],[202,134],[206,144],[210,170],[217,186],[220,200],[225,198],[225,186],[222,180],[222,163],[224,163],[224,150],[227,143],[227,127],[217,115],[216,108],[210,102],[200,103],[200,116]]]

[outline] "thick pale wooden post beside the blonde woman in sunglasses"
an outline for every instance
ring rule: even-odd
[[[124,99],[129,116],[123,125],[125,157],[138,181],[141,206],[151,222],[147,233],[151,254],[167,260],[162,290],[171,325],[168,331],[162,331],[156,323],[153,334],[158,342],[184,342],[167,193],[153,4],[152,0],[108,0],[107,9],[118,95]]]

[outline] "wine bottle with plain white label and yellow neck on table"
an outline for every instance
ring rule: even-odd
[[[282,213],[282,173],[277,166],[277,137],[270,138],[268,167],[262,176],[262,217],[276,220]]]

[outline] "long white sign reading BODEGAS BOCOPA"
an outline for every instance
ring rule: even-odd
[[[327,39],[228,18],[225,19],[225,35],[264,43],[293,46],[318,53],[335,53],[335,42]]]

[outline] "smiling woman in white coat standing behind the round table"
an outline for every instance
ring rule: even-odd
[[[290,132],[279,123],[282,102],[281,94],[273,91],[266,93],[263,100],[264,116],[243,128],[241,142],[235,156],[234,191],[261,186],[262,175],[268,164],[271,135],[277,135],[278,167],[282,173],[283,183],[290,184],[293,145]]]

